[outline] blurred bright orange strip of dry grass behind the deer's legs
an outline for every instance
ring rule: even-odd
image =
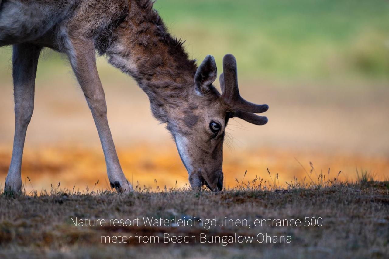
[[[9,148],[0,149],[0,186],[11,161]],[[148,145],[137,145],[119,149],[119,159],[128,180],[135,187],[156,191],[158,185],[165,187],[187,187],[187,172],[180,161],[177,149],[156,149]],[[367,171],[366,171],[367,170]],[[388,180],[389,159],[320,152],[282,151],[280,149],[245,149],[229,151],[226,147],[223,163],[224,186],[234,188],[237,181],[247,187],[252,179],[255,185],[272,189],[331,185],[334,177],[342,182],[355,182],[367,175],[375,180]],[[245,173],[246,171],[246,173]],[[340,175],[339,172],[341,171]],[[29,180],[29,179],[31,180]],[[40,147],[26,149],[23,156],[22,179],[26,193],[51,189],[61,182],[61,187],[84,191],[110,189],[105,161],[101,148],[85,147]],[[304,182],[304,186],[302,185]]]

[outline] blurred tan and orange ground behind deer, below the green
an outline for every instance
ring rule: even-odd
[[[105,66],[105,65],[103,65]],[[110,68],[105,68],[110,70]],[[35,109],[30,123],[22,166],[27,190],[56,186],[84,190],[107,188],[105,161],[95,125],[84,96],[70,72],[53,73],[53,79],[37,79]],[[170,135],[151,115],[147,96],[124,75],[102,75],[108,118],[121,165],[128,180],[155,188],[185,186],[187,172]],[[240,81],[242,82],[242,80]],[[4,84],[4,82],[3,82]],[[317,172],[356,180],[356,168],[384,180],[389,172],[385,88],[334,86],[280,86],[268,82],[242,82],[242,96],[270,105],[265,126],[231,120],[224,144],[226,185],[235,178],[270,180],[279,174],[280,184],[307,176],[311,161]],[[339,86],[342,87],[342,86]],[[352,91],[351,91],[352,90]],[[0,183],[11,161],[14,114],[11,77],[0,96]],[[366,98],[366,96],[368,98]],[[363,105],[361,105],[363,103]]]

